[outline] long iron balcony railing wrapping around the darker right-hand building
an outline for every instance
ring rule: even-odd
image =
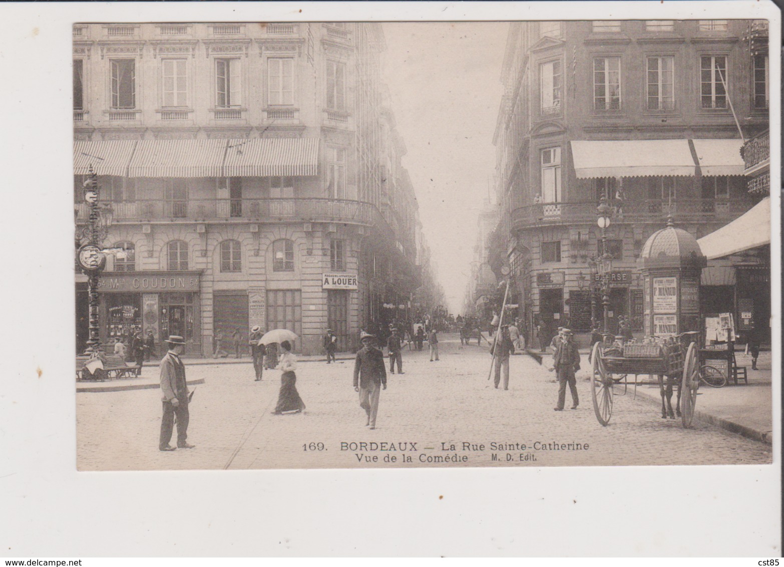
[[[613,222],[656,222],[672,213],[673,220],[732,220],[754,205],[749,199],[643,199],[609,202]],[[546,224],[594,223],[596,202],[559,202],[518,207],[512,212],[515,228]]]

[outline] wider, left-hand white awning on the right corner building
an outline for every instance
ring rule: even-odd
[[[688,140],[574,140],[571,144],[578,179],[695,174]]]

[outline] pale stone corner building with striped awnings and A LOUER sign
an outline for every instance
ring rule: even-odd
[[[74,206],[98,174],[115,253],[100,338],[212,354],[286,328],[339,350],[419,285],[419,225],[379,24],[75,24]],[[77,348],[87,336],[77,275]],[[227,348],[227,350],[230,350]]]

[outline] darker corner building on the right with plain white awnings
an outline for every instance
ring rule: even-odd
[[[510,303],[529,336],[543,322],[584,341],[592,318],[601,325],[601,197],[613,211],[612,333],[619,316],[642,332],[636,260],[669,213],[702,238],[760,200],[747,191],[739,127],[746,140],[768,128],[768,56],[750,49],[767,29],[751,20],[510,24],[495,130],[498,231],[516,276]],[[702,274],[702,285],[731,280],[721,269]]]

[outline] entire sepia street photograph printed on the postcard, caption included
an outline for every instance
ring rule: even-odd
[[[76,21],[78,469],[771,463],[772,26],[563,12]]]

